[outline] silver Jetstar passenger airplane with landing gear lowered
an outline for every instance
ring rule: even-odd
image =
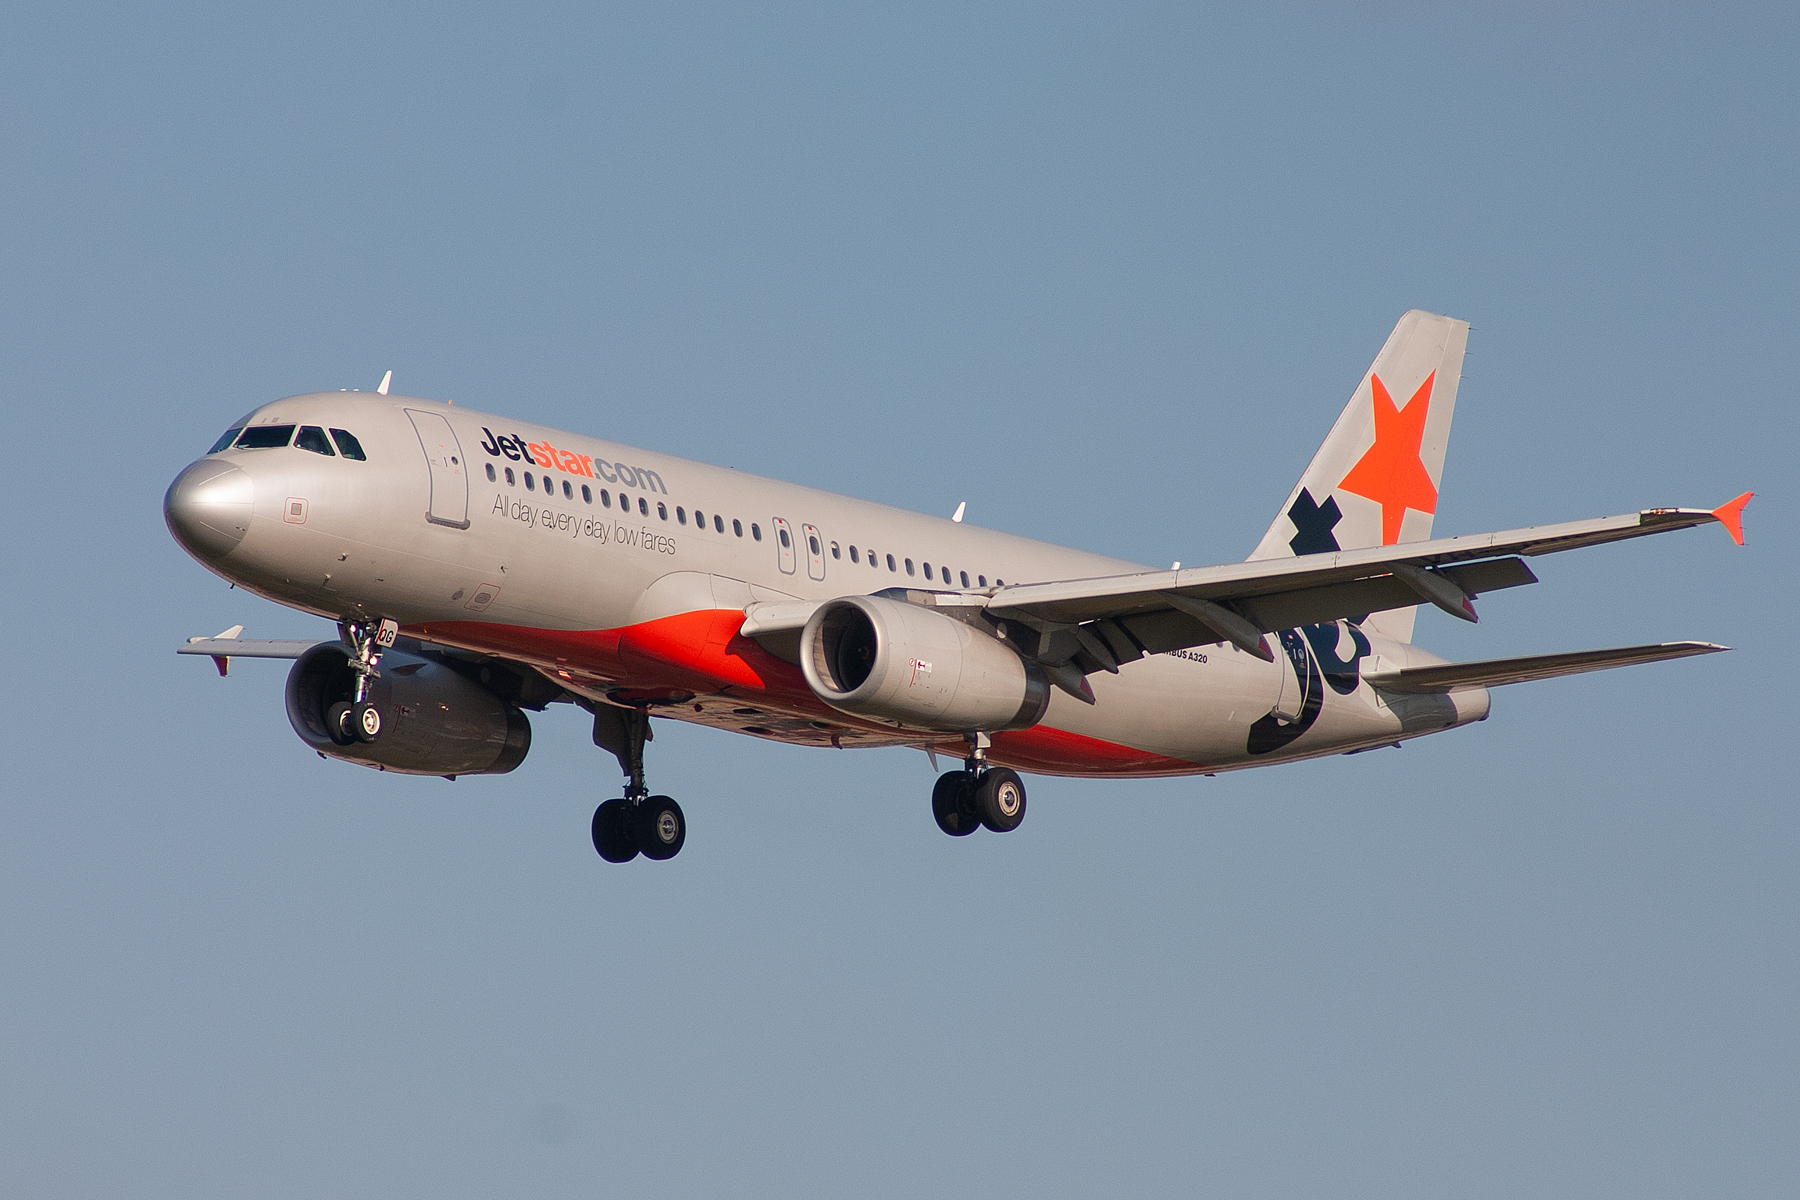
[[[1361,754],[1489,716],[1503,684],[1726,649],[1661,642],[1445,662],[1420,604],[1535,583],[1561,551],[1719,522],[1753,493],[1433,538],[1469,326],[1400,317],[1242,563],[1166,570],[738,470],[374,392],[263,405],[164,497],[175,540],[329,640],[189,639],[292,658],[288,721],[320,757],[506,774],[527,711],[574,703],[625,775],[607,862],[680,853],[652,795],[652,716],[792,745],[916,747],[952,837],[1017,829],[1022,774],[1213,775]]]

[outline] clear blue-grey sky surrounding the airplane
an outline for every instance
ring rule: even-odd
[[[0,1184],[32,1196],[1791,1195],[1782,5],[14,5]],[[1483,725],[1031,784],[659,729],[673,864],[320,763],[162,527],[238,414],[455,399],[1147,563],[1255,545],[1393,320],[1436,518],[1759,491],[1435,612]]]

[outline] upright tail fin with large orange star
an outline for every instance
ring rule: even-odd
[[[1469,322],[1413,309],[1388,335],[1249,561],[1431,536]],[[1413,608],[1364,626],[1408,642]]]

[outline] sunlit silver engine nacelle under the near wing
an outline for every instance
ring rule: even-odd
[[[833,709],[913,729],[1030,729],[1049,707],[1042,669],[1006,642],[884,596],[821,604],[801,631],[799,666]]]

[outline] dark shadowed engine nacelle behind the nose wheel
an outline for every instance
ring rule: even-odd
[[[389,649],[369,700],[382,709],[382,738],[344,745],[326,709],[349,700],[356,676],[349,651],[313,646],[288,671],[288,723],[301,741],[335,759],[403,775],[502,775],[526,759],[531,721],[441,658]]]

